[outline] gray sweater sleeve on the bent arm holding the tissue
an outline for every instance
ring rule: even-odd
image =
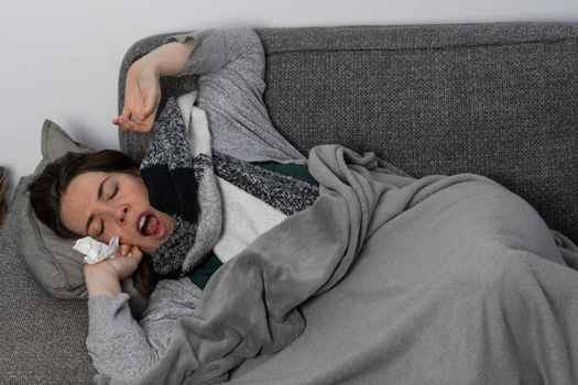
[[[95,369],[120,382],[141,377],[164,354],[175,322],[194,314],[201,293],[186,277],[160,280],[139,323],[126,293],[88,299],[86,345]]]

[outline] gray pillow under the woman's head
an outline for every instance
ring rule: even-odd
[[[34,174],[42,172],[48,163],[56,161],[67,152],[90,151],[94,150],[75,142],[56,123],[46,120],[42,128],[42,161],[36,166]],[[33,177],[33,175],[26,177],[26,183],[30,183]],[[20,224],[22,255],[44,289],[62,299],[87,298],[83,274],[84,255],[73,250],[75,241],[54,234],[36,218],[29,199],[21,213]],[[131,296],[130,306],[133,315],[140,318],[146,307],[146,300],[134,289],[131,278],[124,279],[121,284],[123,292]]]

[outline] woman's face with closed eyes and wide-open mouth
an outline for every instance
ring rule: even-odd
[[[140,177],[124,173],[88,172],[76,176],[61,200],[64,226],[77,234],[152,253],[173,231],[173,219],[154,209]]]

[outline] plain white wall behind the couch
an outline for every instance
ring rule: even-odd
[[[3,0],[0,165],[12,184],[40,161],[45,118],[118,148],[118,67],[146,35],[209,26],[576,21],[577,0]]]

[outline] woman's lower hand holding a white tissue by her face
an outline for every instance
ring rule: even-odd
[[[138,246],[121,244],[113,258],[85,265],[88,297],[103,294],[116,298],[121,293],[120,282],[134,273],[141,260],[142,252]]]

